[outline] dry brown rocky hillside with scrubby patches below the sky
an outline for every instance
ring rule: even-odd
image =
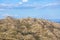
[[[60,24],[37,18],[0,19],[0,40],[60,40]]]

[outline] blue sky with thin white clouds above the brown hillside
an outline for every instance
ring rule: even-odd
[[[60,0],[0,0],[0,18],[60,19]]]

